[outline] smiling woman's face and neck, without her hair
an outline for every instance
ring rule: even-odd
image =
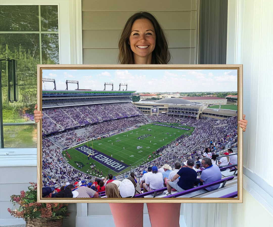
[[[136,64],[151,64],[155,40],[155,28],[150,20],[135,20],[131,28],[129,44]]]

